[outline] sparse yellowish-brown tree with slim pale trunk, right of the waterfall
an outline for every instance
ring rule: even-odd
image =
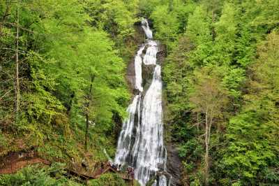
[[[204,116],[204,184],[209,185],[209,149],[211,128],[223,119],[223,108],[227,104],[227,95],[225,89],[220,86],[220,80],[217,76],[209,74],[209,69],[195,74],[195,83],[193,93],[190,94],[190,102],[193,104],[194,112]]]

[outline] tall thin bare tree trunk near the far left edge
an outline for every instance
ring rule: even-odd
[[[20,0],[17,1],[17,48],[15,50],[15,121],[17,121],[18,111],[20,110],[20,79],[19,79],[19,60],[18,60],[18,42],[20,27]]]

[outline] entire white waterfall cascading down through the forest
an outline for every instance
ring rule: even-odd
[[[128,164],[135,168],[135,179],[146,185],[156,178],[154,186],[167,186],[165,176],[167,151],[163,141],[163,109],[161,66],[156,64],[158,43],[152,40],[152,31],[147,20],[142,20],[146,43],[135,56],[135,95],[128,106],[128,118],[123,122],[119,135],[116,164]],[[146,48],[146,53],[142,53]],[[142,87],[142,66],[154,66],[153,79],[148,90]],[[144,95],[144,96],[143,96]]]

